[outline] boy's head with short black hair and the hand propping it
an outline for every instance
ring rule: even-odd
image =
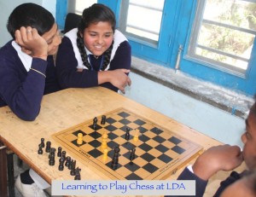
[[[54,55],[61,43],[53,15],[35,3],[23,3],[9,15],[7,29],[21,50],[33,57]]]

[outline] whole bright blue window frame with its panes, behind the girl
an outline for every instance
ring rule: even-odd
[[[63,2],[57,0],[57,7]],[[97,2],[113,9],[132,55],[247,95],[256,93],[255,0]]]

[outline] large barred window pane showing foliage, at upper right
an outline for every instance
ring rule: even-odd
[[[256,34],[256,3],[199,1],[188,56],[244,77]]]

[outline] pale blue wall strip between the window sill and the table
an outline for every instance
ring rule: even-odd
[[[241,146],[244,119],[131,72],[125,96],[220,142]],[[157,119],[155,120],[157,123]]]

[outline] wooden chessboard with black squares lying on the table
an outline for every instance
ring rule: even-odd
[[[128,138],[125,136],[127,132]],[[108,138],[105,138],[106,134]],[[107,141],[107,148],[104,148],[108,150],[107,155],[102,148],[102,136]],[[76,154],[80,162],[102,171],[111,179],[119,180],[164,179],[202,151],[202,147],[195,142],[125,108],[61,130],[53,138],[62,148]],[[116,147],[119,147],[118,163],[113,168]],[[131,159],[132,148],[136,151]]]

